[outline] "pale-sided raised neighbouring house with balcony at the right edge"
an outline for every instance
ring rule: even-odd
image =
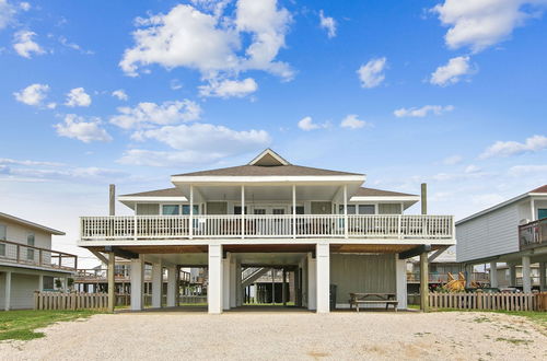
[[[532,291],[531,265],[537,264],[540,289],[546,290],[547,185],[485,209],[456,222],[457,260],[490,263],[491,287],[498,282],[498,263],[509,266],[510,287]],[[516,267],[522,266],[522,283]]]

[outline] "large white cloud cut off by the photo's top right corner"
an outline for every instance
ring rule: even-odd
[[[445,0],[432,12],[449,26],[444,39],[452,49],[468,46],[480,51],[507,39],[516,26],[538,15],[545,0]]]

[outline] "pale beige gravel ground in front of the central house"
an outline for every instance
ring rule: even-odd
[[[0,342],[1,360],[546,360],[545,329],[493,313],[144,312]]]

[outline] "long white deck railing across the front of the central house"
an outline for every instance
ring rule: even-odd
[[[81,240],[454,238],[452,216],[223,214],[82,217]]]

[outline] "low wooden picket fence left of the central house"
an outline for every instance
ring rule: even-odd
[[[116,294],[116,305],[129,305],[129,294]],[[34,292],[34,310],[106,310],[107,293]]]

